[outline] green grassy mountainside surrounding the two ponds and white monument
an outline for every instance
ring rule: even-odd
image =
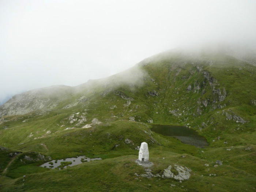
[[[40,113],[32,102],[30,113],[1,117],[0,146],[22,155],[0,177],[0,188],[254,191],[255,82],[255,67],[234,57],[163,53],[121,74],[57,92],[52,95],[57,100],[48,100],[54,107],[45,105]],[[150,124],[185,125],[204,136],[209,146],[202,150],[183,144],[152,132]],[[189,167],[191,178],[179,183],[135,176],[145,172],[134,162],[136,147],[143,141],[148,143],[155,174],[176,163]],[[103,160],[48,170],[38,167],[45,158],[24,161],[31,152],[53,159],[86,155]],[[6,152],[0,157],[11,159]],[[223,165],[214,167],[217,160]],[[24,174],[29,175],[22,186]]]

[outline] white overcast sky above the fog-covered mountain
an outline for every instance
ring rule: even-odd
[[[219,41],[256,41],[256,0],[0,0],[0,103]]]

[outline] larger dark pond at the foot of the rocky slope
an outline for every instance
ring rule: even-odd
[[[190,144],[196,147],[208,146],[207,140],[193,129],[178,125],[152,125],[152,131],[165,136],[177,138],[182,143]]]

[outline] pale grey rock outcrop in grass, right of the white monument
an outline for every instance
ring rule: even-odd
[[[162,177],[165,178],[174,178],[176,180],[182,181],[182,180],[188,180],[191,176],[190,172],[191,169],[188,169],[187,167],[182,167],[180,165],[174,165],[174,169],[178,172],[178,174],[174,174],[171,172],[172,166],[169,165],[166,169],[163,170]]]

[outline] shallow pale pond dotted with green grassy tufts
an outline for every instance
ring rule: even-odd
[[[52,160],[40,166],[45,168],[51,168],[51,169],[54,169],[56,167],[58,167],[59,169],[63,169],[63,168],[65,169],[67,168],[67,166],[74,166],[83,162],[89,162],[94,160],[101,160],[101,158],[89,158],[85,156],[78,156],[78,157],[72,157],[72,158],[66,158],[66,159]],[[71,162],[71,164],[65,164],[65,162]]]

